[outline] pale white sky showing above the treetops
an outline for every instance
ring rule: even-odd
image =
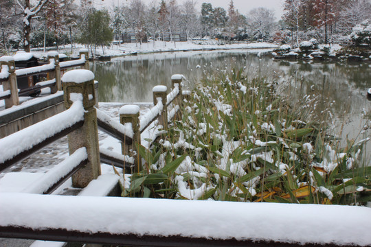
[[[100,5],[105,5],[106,7],[110,7],[112,3],[117,5],[117,3],[124,4],[130,0],[94,0],[95,7],[99,8]],[[153,0],[143,0],[144,3],[148,5],[148,3],[152,2]],[[157,0],[159,3],[161,0]],[[179,4],[183,3],[185,0],[177,0]],[[195,0],[196,1],[196,10],[201,11],[201,4],[202,3],[211,3],[212,7],[222,7],[225,10],[228,10],[228,5],[230,0]],[[282,16],[282,3],[283,0],[234,0],[234,6],[238,9],[241,14],[247,14],[251,9],[258,8],[258,7],[265,7],[271,10],[274,10],[276,21],[280,19]]]

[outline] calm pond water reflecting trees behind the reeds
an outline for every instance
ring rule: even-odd
[[[91,70],[100,82],[100,102],[152,102],[152,88],[164,84],[170,89],[172,74],[181,73],[194,86],[204,75],[215,70],[245,69],[249,77],[264,77],[277,82],[281,93],[291,96],[293,103],[306,95],[317,99],[314,114],[330,115],[334,130],[343,145],[348,139],[370,137],[361,133],[371,119],[371,101],[366,93],[371,87],[371,64],[341,62],[287,62],[260,56],[261,49],[228,51],[188,51],[145,54],[114,58],[110,62],[94,62]],[[330,110],[324,110],[330,108]],[[370,126],[371,127],[371,126]],[[371,144],[367,147],[371,154]],[[367,158],[370,161],[370,158]]]

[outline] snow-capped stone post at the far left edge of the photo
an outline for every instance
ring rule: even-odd
[[[5,99],[5,108],[19,105],[18,87],[16,84],[16,73],[14,58],[11,56],[3,56],[0,58],[0,71],[4,72],[8,70],[8,80],[2,82],[3,91],[10,90],[10,98]]]

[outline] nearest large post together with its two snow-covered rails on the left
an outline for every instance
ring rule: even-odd
[[[69,135],[71,156],[50,170],[28,193],[50,193],[72,176],[74,187],[86,187],[100,175],[94,75],[87,70],[65,73],[63,89],[67,110],[0,139],[0,171],[49,143]]]

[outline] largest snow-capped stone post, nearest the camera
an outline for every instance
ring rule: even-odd
[[[69,154],[73,154],[78,148],[87,148],[89,159],[87,165],[72,176],[72,185],[83,188],[101,174],[97,113],[94,108],[94,74],[89,70],[75,69],[65,73],[62,82],[65,107],[70,108],[73,104],[72,99],[80,94],[85,109],[84,125],[68,135]]]

